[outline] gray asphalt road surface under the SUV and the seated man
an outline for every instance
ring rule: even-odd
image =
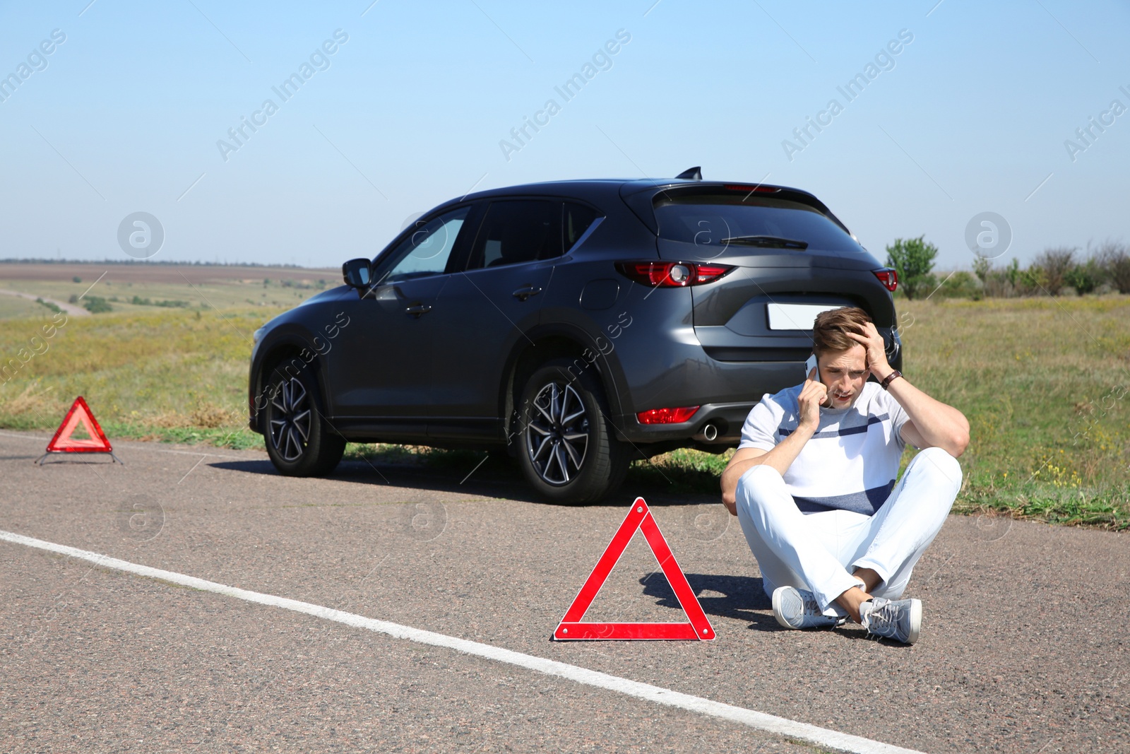
[[[489,465],[292,479],[262,452],[153,443],[35,466],[47,439],[0,432],[5,531],[924,752],[1130,752],[1125,535],[950,517],[903,647],[779,630],[709,497],[565,508]],[[718,639],[550,641],[636,494]],[[819,748],[8,541],[0,584],[3,752]],[[586,615],[681,618],[638,535]]]

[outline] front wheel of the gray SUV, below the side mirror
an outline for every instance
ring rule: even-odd
[[[276,366],[266,396],[263,441],[279,474],[321,476],[337,468],[346,440],[325,421],[310,367]]]

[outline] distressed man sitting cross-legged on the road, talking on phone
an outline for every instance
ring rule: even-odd
[[[823,312],[817,366],[754,407],[722,473],[773,615],[790,629],[841,625],[918,640],[922,603],[901,599],[962,486],[965,416],[887,363],[862,309]],[[875,375],[878,382],[868,382]],[[898,460],[914,457],[898,484]]]

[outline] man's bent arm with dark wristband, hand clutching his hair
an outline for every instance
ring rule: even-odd
[[[873,324],[868,322],[862,335],[846,335],[867,349],[867,367],[876,380],[881,382],[895,371],[887,363],[883,336]],[[910,417],[899,433],[903,440],[915,448],[941,448],[954,458],[965,452],[970,444],[970,423],[964,414],[925,395],[906,378],[896,378],[887,390]]]

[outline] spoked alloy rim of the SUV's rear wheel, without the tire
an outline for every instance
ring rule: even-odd
[[[533,470],[555,487],[572,482],[589,448],[589,413],[570,384],[550,382],[533,398],[525,427],[525,452]]]

